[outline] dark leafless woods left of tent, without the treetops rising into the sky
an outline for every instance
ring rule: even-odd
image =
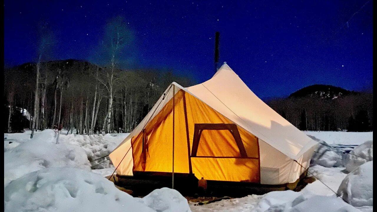
[[[36,64],[6,69],[5,132],[32,128],[32,121],[22,115],[23,109],[35,120],[35,130],[62,124],[70,133],[77,129],[77,134],[130,132],[170,83],[192,85],[190,78],[175,76],[171,71],[114,69],[110,93],[108,69],[80,60],[41,63],[35,117]]]

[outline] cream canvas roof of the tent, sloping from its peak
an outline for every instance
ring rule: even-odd
[[[172,85],[178,88],[175,93],[179,89],[188,92],[291,159],[297,160],[317,145],[316,141],[259,99],[226,63],[204,83],[187,88],[175,82]],[[159,98],[141,123],[118,147],[139,134],[147,122],[161,111],[173,97],[168,91],[169,88],[164,92],[166,95]]]

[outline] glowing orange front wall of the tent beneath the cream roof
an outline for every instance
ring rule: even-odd
[[[186,100],[190,150],[195,123],[233,123],[205,103],[182,90],[175,95],[175,164],[174,171],[189,173],[189,152],[185,125]],[[146,126],[133,137],[133,170],[151,172],[172,171],[172,107],[170,100]],[[226,130],[203,131],[197,156],[191,158],[192,171],[199,179],[223,181],[260,181],[258,142],[254,135],[238,128],[248,158],[240,158],[233,135]],[[147,139],[146,139],[147,138]],[[147,140],[147,141],[146,141]],[[143,149],[144,146],[144,149]],[[218,157],[238,158],[218,158]],[[203,158],[205,157],[205,158]]]

